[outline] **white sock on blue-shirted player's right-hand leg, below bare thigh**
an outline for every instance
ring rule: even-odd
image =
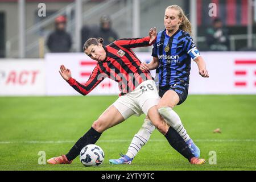
[[[172,110],[171,107],[160,107],[158,109],[158,112],[164,118],[167,124],[180,134],[185,142],[190,139],[187,131],[181,123],[179,115],[177,115],[177,113],[175,113],[175,111]]]

